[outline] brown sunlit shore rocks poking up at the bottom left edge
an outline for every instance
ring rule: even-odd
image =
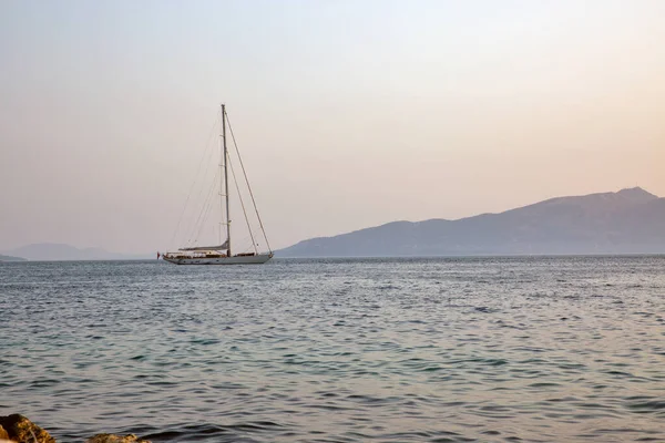
[[[0,415],[0,443],[55,443],[45,430],[21,414]],[[85,443],[151,443],[134,434],[96,434]]]

